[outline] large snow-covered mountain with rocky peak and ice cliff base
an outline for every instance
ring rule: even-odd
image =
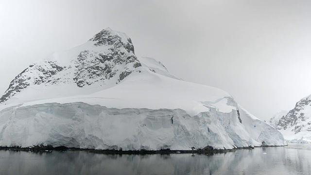
[[[0,146],[122,150],[286,145],[227,92],[181,80],[109,28],[31,64],[0,99]]]

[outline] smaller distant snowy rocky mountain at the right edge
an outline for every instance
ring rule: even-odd
[[[274,126],[286,140],[293,143],[311,142],[311,95],[298,101],[294,109],[283,114],[278,120],[272,118]]]

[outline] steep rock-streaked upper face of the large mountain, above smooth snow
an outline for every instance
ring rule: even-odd
[[[16,76],[0,98],[3,103],[26,88],[74,84],[83,88],[114,86],[141,66],[131,39],[110,28],[102,30],[85,44],[31,64]],[[97,84],[97,85],[96,85]],[[81,90],[78,90],[80,92]],[[61,91],[60,91],[61,92]],[[59,96],[66,95],[60,93]]]

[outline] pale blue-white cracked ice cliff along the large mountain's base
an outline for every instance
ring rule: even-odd
[[[242,123],[237,110],[224,113],[212,107],[190,116],[182,109],[117,109],[81,102],[14,106],[0,111],[0,146],[189,150],[286,144],[270,125],[240,113]],[[253,129],[254,123],[263,129]]]

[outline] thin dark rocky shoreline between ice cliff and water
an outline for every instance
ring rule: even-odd
[[[137,151],[122,151],[122,150],[97,150],[97,149],[83,149],[83,148],[68,148],[65,146],[58,146],[53,147],[51,145],[39,145],[39,146],[32,146],[32,147],[0,147],[0,150],[11,150],[11,151],[27,151],[27,152],[35,152],[35,153],[42,153],[42,152],[52,152],[52,151],[85,151],[90,153],[97,153],[97,154],[109,154],[109,155],[150,155],[150,154],[206,154],[212,155],[216,153],[226,153],[235,151],[237,149],[254,149],[253,146],[242,147],[242,148],[234,148],[234,149],[215,149],[211,146],[207,146],[204,149],[193,149],[193,150],[170,150],[170,149],[161,149],[161,150],[137,150]]]

